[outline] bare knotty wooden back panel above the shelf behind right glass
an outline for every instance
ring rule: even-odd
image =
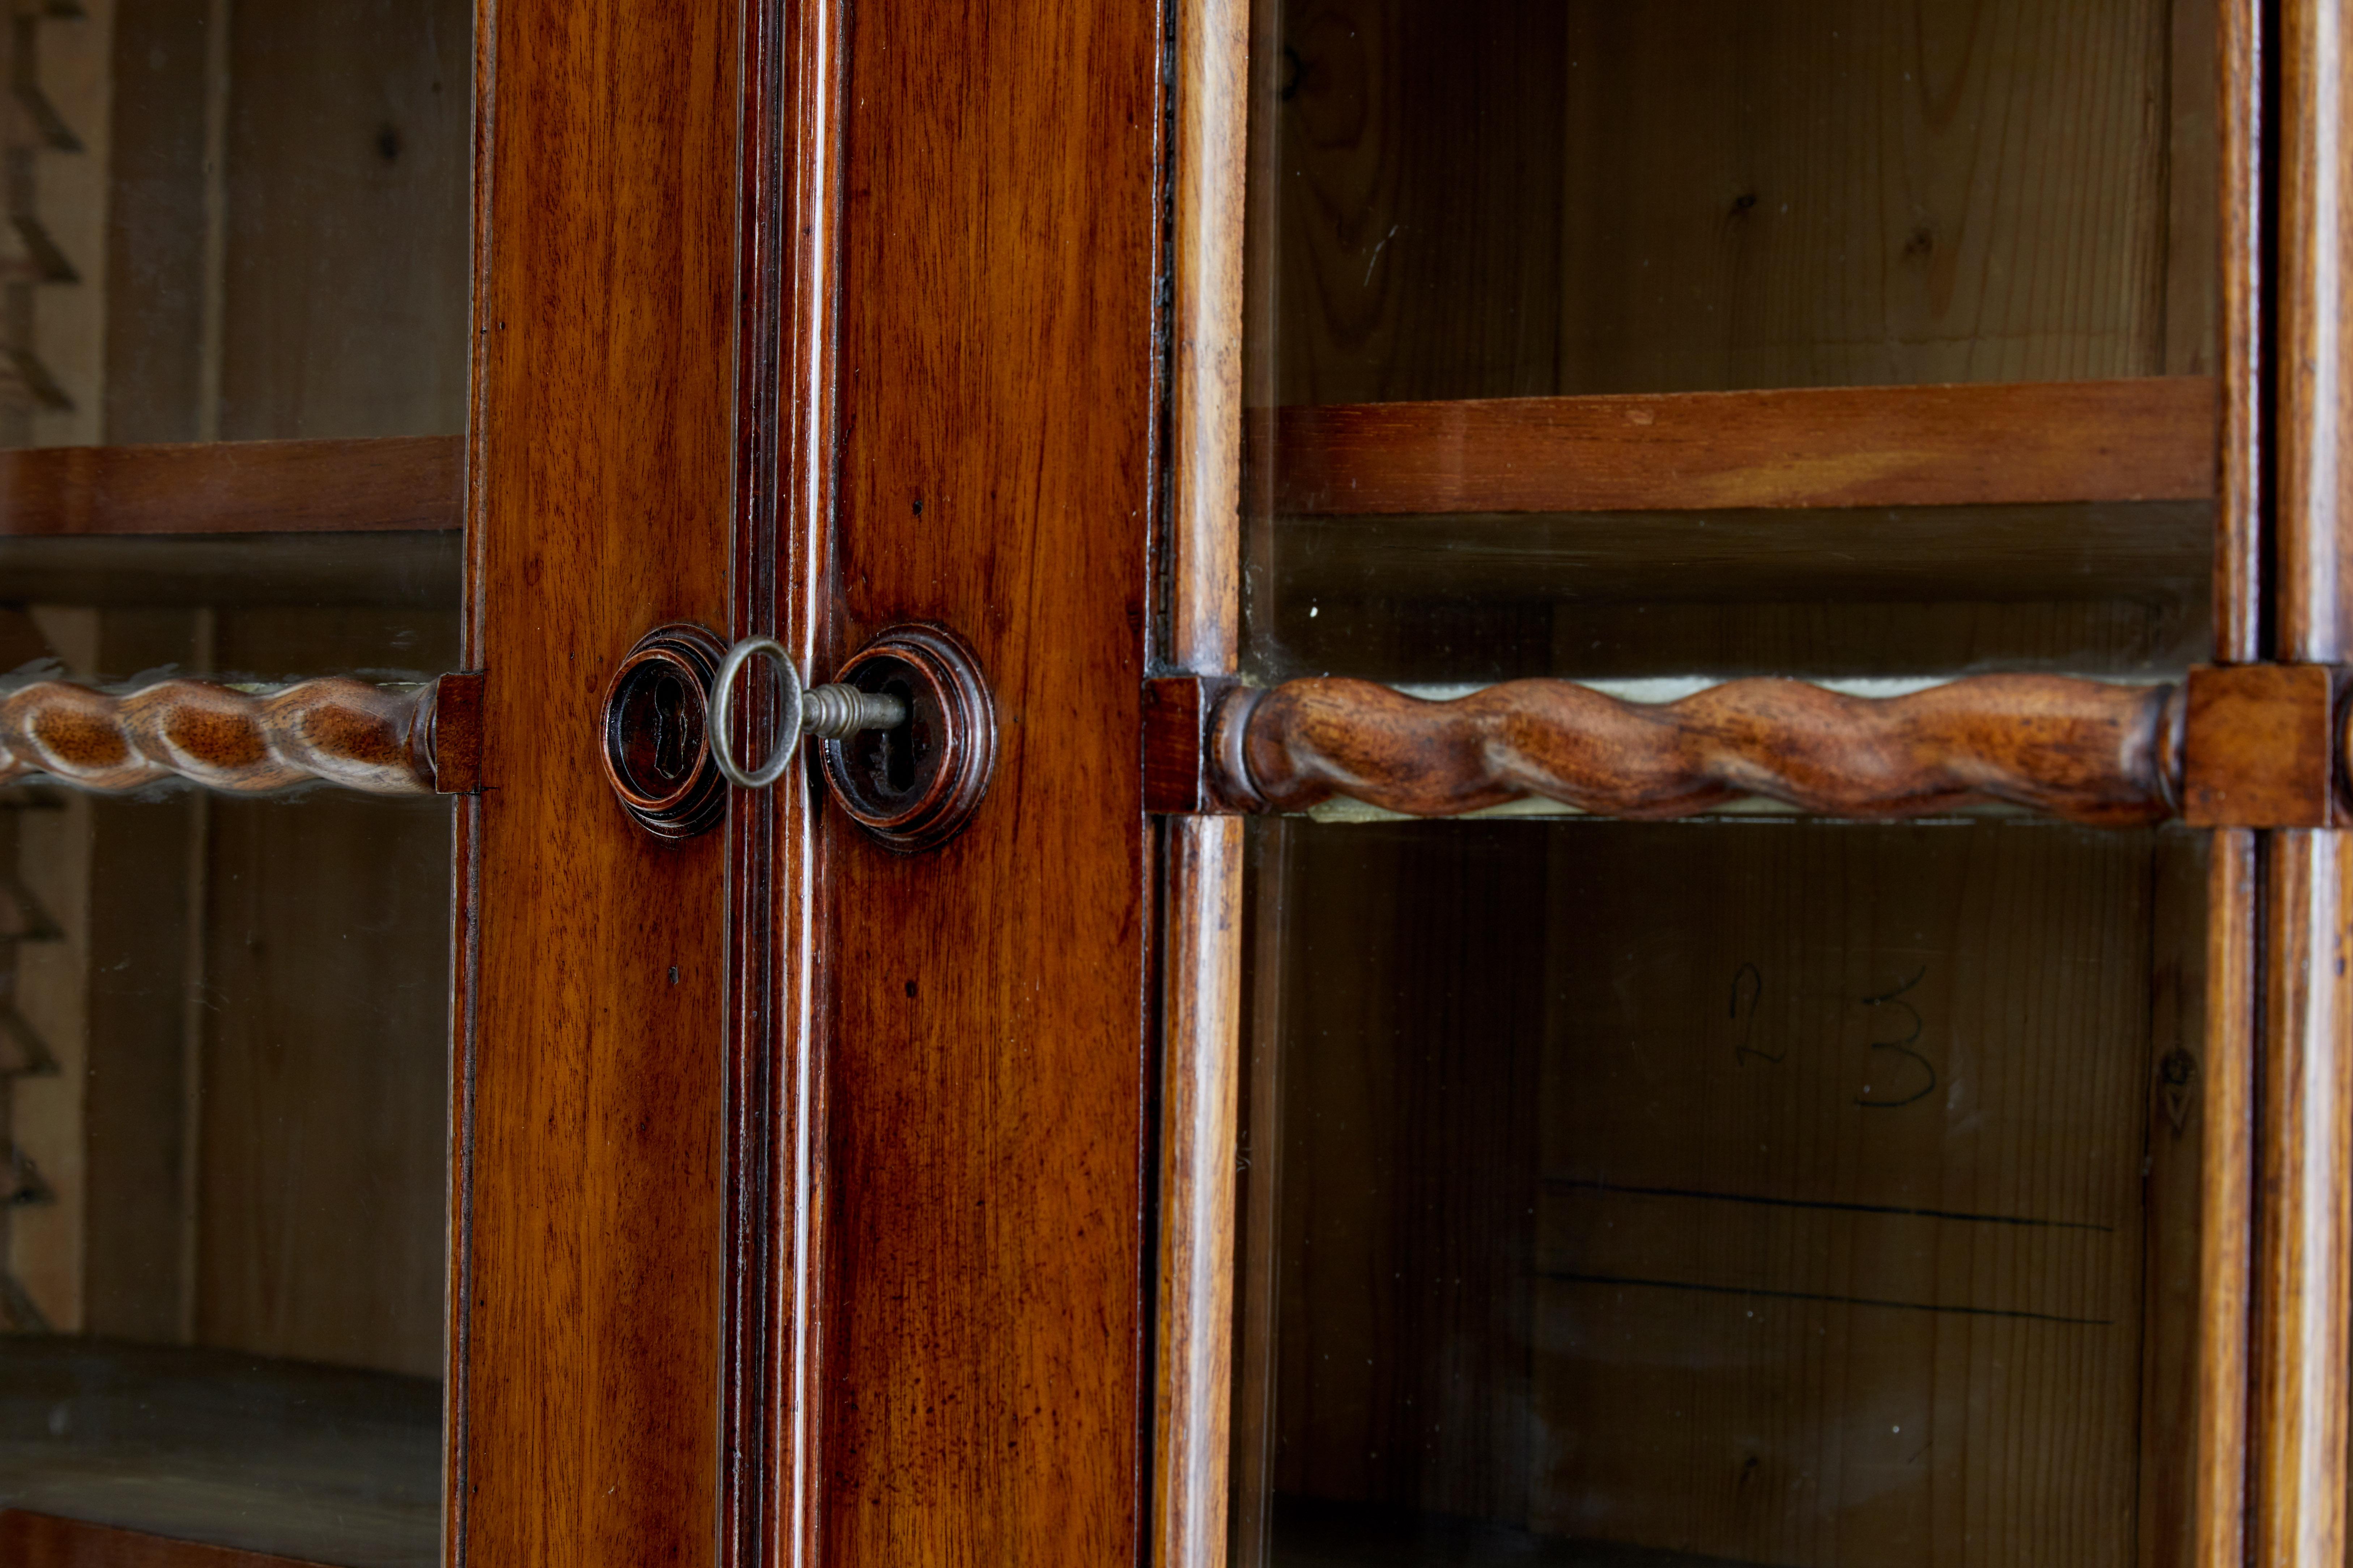
[[[1285,0],[1273,402],[2212,371],[2212,16]]]

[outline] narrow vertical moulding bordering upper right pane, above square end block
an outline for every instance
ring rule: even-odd
[[[2214,517],[2214,658],[2264,656],[2264,496],[2271,489],[2264,395],[2268,263],[2264,38],[2259,0],[2221,0],[2221,477]]]

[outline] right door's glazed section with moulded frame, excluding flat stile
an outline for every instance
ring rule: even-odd
[[[2344,1559],[2320,12],[1181,7],[1155,1561]]]

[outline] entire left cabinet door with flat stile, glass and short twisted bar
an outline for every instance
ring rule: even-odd
[[[734,49],[5,21],[5,1563],[708,1540],[722,842],[600,701],[727,618]]]

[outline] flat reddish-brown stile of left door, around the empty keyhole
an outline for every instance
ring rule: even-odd
[[[614,665],[727,623],[736,7],[480,9],[466,663],[487,670],[454,1298],[456,1561],[706,1559],[725,844],[598,769]],[[461,938],[466,929],[461,926]]]

